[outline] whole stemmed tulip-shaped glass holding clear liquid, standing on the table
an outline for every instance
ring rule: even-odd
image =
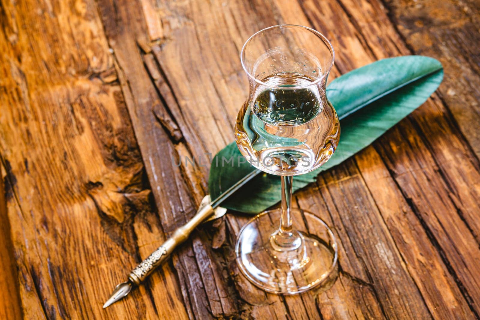
[[[291,204],[293,176],[322,166],[340,139],[325,95],[334,57],[322,34],[291,24],[257,32],[241,50],[250,93],[237,117],[236,142],[252,166],[281,176],[282,202],[243,226],[236,253],[242,273],[268,292],[306,291],[324,282],[337,261],[330,228]]]

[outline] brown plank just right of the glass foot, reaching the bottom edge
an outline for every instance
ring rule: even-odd
[[[324,175],[324,183],[338,210],[334,225],[345,232],[340,239],[351,242],[353,257],[349,261],[357,260],[365,268],[365,283],[371,284],[385,316],[430,318],[357,168],[350,165],[332,170]]]

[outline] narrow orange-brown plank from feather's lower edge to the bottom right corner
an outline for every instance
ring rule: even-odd
[[[423,228],[421,222],[396,188],[395,180],[385,171],[380,155],[373,148],[368,148],[358,154],[355,160],[359,167],[365,168],[361,175],[369,185],[408,273],[418,285],[432,316],[440,319],[460,316],[463,319],[473,318],[474,314],[456,285],[456,279],[445,272],[447,266],[441,253],[430,241],[429,234],[419,232]]]

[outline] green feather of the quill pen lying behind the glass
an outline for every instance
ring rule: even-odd
[[[320,168],[293,178],[293,190],[314,182],[316,176],[359,152],[405,118],[442,82],[442,64],[433,58],[404,56],[382,59],[336,78],[327,87],[327,97],[340,118],[340,142]],[[230,163],[225,159],[233,158]],[[212,199],[256,170],[242,158],[235,142],[212,161],[208,185]],[[280,177],[260,174],[240,188],[222,207],[260,213],[281,200]]]

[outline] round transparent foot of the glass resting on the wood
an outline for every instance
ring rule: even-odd
[[[260,213],[240,230],[237,263],[259,288],[293,295],[324,282],[335,268],[338,248],[324,221],[312,213],[292,208],[293,226],[301,239],[293,250],[272,246],[271,235],[280,225],[280,210]]]

